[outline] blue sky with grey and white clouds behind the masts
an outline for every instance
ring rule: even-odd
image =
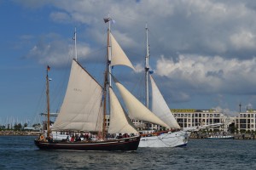
[[[256,109],[255,15],[250,0],[0,0],[0,124],[33,122],[46,110],[47,65],[51,111],[60,109],[75,27],[79,61],[102,83],[108,16],[137,68],[113,68],[131,92],[143,83],[147,24],[150,69],[170,108]]]

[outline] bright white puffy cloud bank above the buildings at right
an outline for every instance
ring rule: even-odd
[[[247,60],[224,59],[220,56],[180,54],[178,61],[163,56],[157,61],[156,73],[176,82],[186,83],[201,93],[231,93],[253,91],[256,58]],[[247,87],[247,89],[243,89]]]

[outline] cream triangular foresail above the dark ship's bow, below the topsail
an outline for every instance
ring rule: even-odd
[[[125,111],[112,88],[109,88],[109,98],[111,113],[108,133],[138,133],[129,117],[125,116]]]

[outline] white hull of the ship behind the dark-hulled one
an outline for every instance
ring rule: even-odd
[[[186,146],[190,132],[178,131],[173,133],[161,133],[157,136],[146,136],[141,138],[138,147],[177,147]]]

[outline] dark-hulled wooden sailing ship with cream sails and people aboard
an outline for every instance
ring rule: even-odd
[[[140,135],[132,124],[125,111],[119,103],[110,84],[111,66],[127,65],[132,66],[118,42],[114,41],[110,31],[110,18],[108,22],[108,58],[105,71],[104,86],[102,87],[90,76],[78,62],[77,56],[73,59],[67,92],[61,105],[55,123],[49,127],[49,77],[47,67],[47,101],[48,101],[48,125],[46,137],[42,134],[34,142],[41,150],[120,150],[135,151],[140,142]],[[112,41],[110,41],[110,39]],[[76,44],[76,31],[75,31]],[[119,58],[111,58],[112,54],[118,53]],[[110,126],[107,129],[107,93],[110,108]],[[73,133],[77,139],[55,140],[57,132]],[[118,138],[108,139],[108,133],[118,133]],[[93,134],[93,135],[91,135]],[[130,134],[130,135],[129,135]]]

